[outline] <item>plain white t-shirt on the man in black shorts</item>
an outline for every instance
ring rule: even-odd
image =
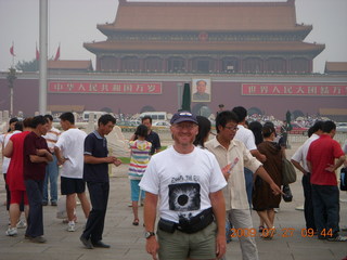
[[[62,177],[83,178],[86,136],[87,133],[77,128],[70,128],[60,135],[55,146],[62,151],[63,157],[67,159],[61,170]]]

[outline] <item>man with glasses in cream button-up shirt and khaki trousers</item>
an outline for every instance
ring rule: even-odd
[[[224,110],[219,113],[216,118],[217,136],[205,143],[205,146],[216,156],[221,169],[230,165],[231,173],[224,173],[228,185],[223,190],[227,217],[236,230],[250,231],[254,227],[245,186],[244,167],[247,167],[269,183],[274,195],[282,192],[264,169],[261,162],[253,157],[241,141],[234,139],[239,129],[237,121],[237,116],[233,112]],[[245,235],[239,239],[242,259],[259,259],[255,237]]]

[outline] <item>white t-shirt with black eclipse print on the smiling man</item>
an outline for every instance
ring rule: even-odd
[[[180,154],[171,146],[151,158],[139,185],[159,196],[160,218],[178,223],[179,216],[189,219],[211,207],[209,194],[227,182],[207,150]]]

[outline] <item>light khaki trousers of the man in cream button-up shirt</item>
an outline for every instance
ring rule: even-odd
[[[250,229],[254,229],[249,209],[231,209],[227,214],[236,230],[242,229],[244,231],[250,231]],[[258,260],[259,257],[255,237],[241,236],[239,239],[242,250],[242,259]]]

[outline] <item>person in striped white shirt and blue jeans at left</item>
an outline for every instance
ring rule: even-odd
[[[46,166],[46,178],[43,181],[43,199],[42,206],[48,205],[48,183],[50,183],[50,196],[51,196],[51,205],[56,206],[57,202],[57,177],[59,177],[59,166],[56,156],[54,154],[54,145],[61,134],[61,131],[53,127],[53,117],[51,115],[43,116],[48,120],[49,130],[43,138],[47,141],[48,148],[53,155],[53,161],[50,161]]]

